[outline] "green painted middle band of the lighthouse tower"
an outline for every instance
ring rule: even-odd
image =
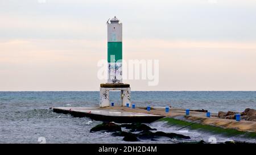
[[[114,56],[114,60],[111,60],[111,56]],[[122,62],[122,42],[108,42],[108,62],[117,61]]]

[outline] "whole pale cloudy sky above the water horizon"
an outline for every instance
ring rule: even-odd
[[[159,60],[132,91],[256,90],[255,0],[0,0],[0,91],[98,91],[113,16],[124,60]]]

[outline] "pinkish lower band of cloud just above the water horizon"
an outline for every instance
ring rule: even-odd
[[[127,80],[133,90],[255,90],[252,43],[123,40],[123,57],[159,60],[159,85]],[[105,40],[0,42],[1,90],[98,90]],[[88,83],[89,82],[89,83]],[[166,83],[167,82],[167,83]]]

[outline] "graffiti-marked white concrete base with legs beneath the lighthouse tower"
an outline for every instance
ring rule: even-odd
[[[122,106],[126,106],[129,103],[131,105],[131,88],[129,84],[112,84],[112,83],[102,83],[100,85],[100,107],[109,107],[109,91],[110,90],[121,90],[121,100]]]

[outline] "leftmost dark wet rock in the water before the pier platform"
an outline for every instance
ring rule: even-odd
[[[90,132],[97,132],[97,131],[108,131],[108,132],[115,132],[115,131],[122,131],[121,127],[115,123],[102,123],[98,124],[92,129],[90,129]]]

